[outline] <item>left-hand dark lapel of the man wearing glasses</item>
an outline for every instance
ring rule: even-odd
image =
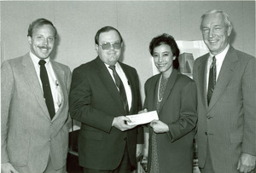
[[[113,101],[115,101],[117,107],[119,107],[119,109],[125,113],[125,110],[119,95],[119,90],[116,88],[116,85],[114,84],[113,78],[109,74],[107,67],[99,57],[96,58],[96,68],[98,70],[99,77],[102,78],[102,83],[108,89],[109,94],[113,98]]]

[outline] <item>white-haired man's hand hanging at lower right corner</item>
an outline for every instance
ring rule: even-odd
[[[255,169],[256,156],[248,153],[241,153],[240,159],[238,160],[237,170],[240,172],[248,173]]]

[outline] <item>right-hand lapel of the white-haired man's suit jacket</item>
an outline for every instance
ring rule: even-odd
[[[235,54],[235,49],[230,47],[227,55],[224,58],[224,62],[221,66],[216,86],[212,93],[212,99],[208,108],[209,111],[216,104],[219,97],[224,92],[224,89],[229,84],[230,79],[233,76],[233,73],[236,72],[236,68],[238,67],[237,61],[238,57]]]

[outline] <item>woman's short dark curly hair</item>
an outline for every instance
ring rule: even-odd
[[[154,54],[154,48],[160,46],[160,45],[169,45],[172,50],[172,55],[176,56],[176,59],[173,61],[173,67],[178,69],[179,63],[178,63],[178,56],[179,56],[179,49],[177,47],[177,43],[169,34],[163,33],[160,36],[154,37],[151,42],[149,43],[149,52],[153,56]]]

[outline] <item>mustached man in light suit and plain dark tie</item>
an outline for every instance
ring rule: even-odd
[[[49,20],[33,21],[27,34],[30,52],[3,62],[3,173],[66,172],[71,71],[49,58],[56,35]]]

